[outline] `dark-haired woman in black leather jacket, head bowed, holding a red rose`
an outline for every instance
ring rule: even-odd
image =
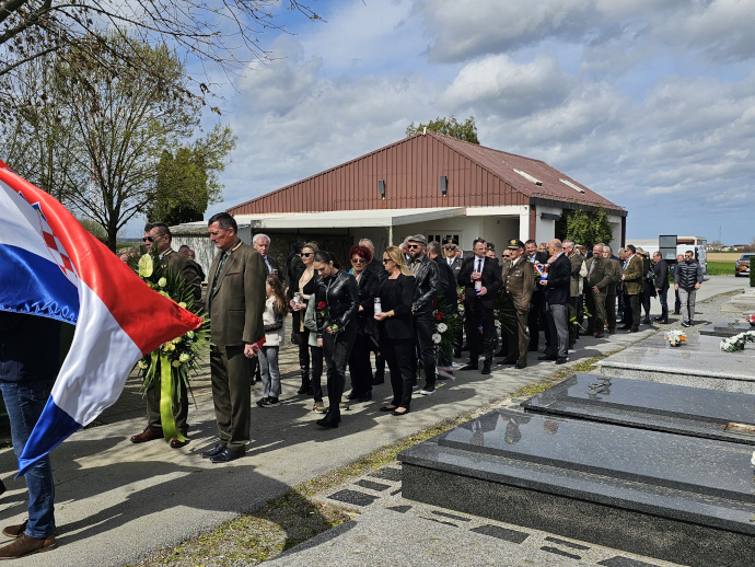
[[[314,255],[314,268],[320,276],[315,282],[315,317],[317,344],[323,347],[327,363],[327,397],[329,407],[321,427],[336,428],[340,423],[340,398],[346,384],[346,362],[357,338],[359,287],[348,271],[334,265],[329,252]]]

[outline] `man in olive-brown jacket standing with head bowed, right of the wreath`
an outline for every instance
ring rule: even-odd
[[[252,386],[248,358],[257,356],[265,337],[265,279],[259,254],[239,239],[236,221],[219,212],[208,222],[210,241],[220,253],[210,267],[207,312],[210,315],[210,378],[220,442],[205,459],[226,463],[242,456],[249,442]]]

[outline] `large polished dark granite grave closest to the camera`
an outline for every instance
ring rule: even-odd
[[[752,565],[753,447],[496,410],[399,454],[403,496],[674,563]]]

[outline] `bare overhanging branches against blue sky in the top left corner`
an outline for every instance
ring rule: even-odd
[[[226,72],[246,58],[265,58],[257,36],[282,30],[272,14],[278,0],[0,0],[0,77],[61,48],[90,49],[100,44],[101,65],[113,60],[149,70],[149,62],[128,43],[113,43],[114,32],[142,44],[166,44]],[[299,0],[284,8],[320,20]],[[200,83],[200,90],[208,89]]]

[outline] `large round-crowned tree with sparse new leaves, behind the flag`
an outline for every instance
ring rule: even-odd
[[[194,134],[201,101],[188,91],[185,69],[171,50],[117,34],[108,37],[151,72],[124,63],[106,45],[58,51],[13,92],[14,107],[23,111],[15,131],[38,151],[33,159],[9,164],[78,216],[96,221],[115,251],[118,231],[156,197],[163,151]],[[100,63],[103,58],[108,65]],[[196,143],[204,148],[202,141]],[[212,177],[218,159],[222,160],[210,154],[205,163],[208,180],[213,180],[208,181],[208,199],[219,194]],[[44,171],[56,176],[46,181],[39,173]]]

